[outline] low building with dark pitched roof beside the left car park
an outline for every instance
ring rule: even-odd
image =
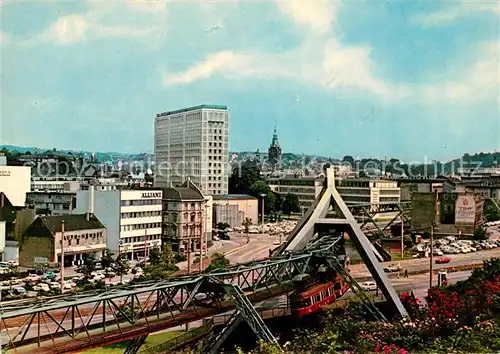
[[[40,261],[60,263],[64,255],[65,266],[80,265],[85,254],[100,258],[105,250],[106,228],[95,215],[39,216],[23,233],[19,263],[24,267]]]

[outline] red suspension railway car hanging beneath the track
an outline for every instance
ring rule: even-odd
[[[322,307],[335,302],[349,290],[349,284],[340,278],[334,282],[314,284],[290,295],[292,315],[302,318],[321,310]]]

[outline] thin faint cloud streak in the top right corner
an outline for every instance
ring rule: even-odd
[[[440,26],[455,21],[464,16],[470,16],[473,13],[492,13],[500,14],[500,2],[470,2],[463,0],[458,4],[449,4],[443,10],[418,14],[413,17],[413,21],[423,26]]]

